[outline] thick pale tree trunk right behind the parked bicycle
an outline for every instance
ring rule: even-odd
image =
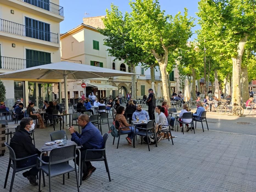
[[[237,56],[232,57],[233,62],[233,72],[232,72],[232,103],[241,104],[241,62],[244,52],[244,45],[247,41],[247,35],[240,39],[240,42],[237,47]]]

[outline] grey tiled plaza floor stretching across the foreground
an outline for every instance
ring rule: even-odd
[[[193,109],[195,111],[195,108]],[[106,154],[110,176],[104,162],[92,162],[97,170],[82,182],[80,191],[256,191],[256,116],[234,117],[207,113],[209,131],[204,123],[193,131],[182,134],[181,130],[172,131],[174,145],[162,140],[158,147],[135,142],[135,148],[129,146],[125,135],[121,136],[119,148],[117,141],[112,145],[109,135]],[[110,124],[112,120],[110,119]],[[243,122],[243,123],[241,123]],[[244,123],[247,122],[247,123]],[[56,130],[59,130],[57,125]],[[64,129],[66,130],[66,129]],[[66,130],[67,131],[67,130]],[[50,140],[52,127],[36,129],[36,147],[40,148]],[[103,133],[108,127],[103,126]],[[68,139],[70,134],[67,132]],[[12,169],[7,188],[3,189],[9,151],[0,157],[0,188],[9,191]],[[73,162],[70,162],[72,165]],[[21,172],[16,173],[13,191],[38,191],[30,185]],[[49,191],[48,178],[46,187]],[[77,191],[74,173],[70,179],[62,176],[52,178],[52,191]]]

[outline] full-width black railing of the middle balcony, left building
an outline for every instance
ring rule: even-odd
[[[52,43],[59,43],[58,33],[51,33],[49,31],[21,25],[4,19],[0,19],[0,31],[40,39],[43,41],[49,41]]]

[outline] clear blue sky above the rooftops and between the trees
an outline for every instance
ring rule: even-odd
[[[114,3],[119,10],[131,12],[129,0],[60,0],[60,6],[64,8],[64,21],[60,23],[60,33],[65,33],[83,22],[83,17],[93,17],[105,15],[106,9],[110,9],[110,4]],[[189,10],[189,16],[197,18],[195,12],[198,11],[198,0],[159,0],[161,9],[167,14],[175,15],[179,11],[183,12],[184,7]],[[85,16],[85,13],[89,15]],[[196,21],[197,22],[197,21]],[[196,25],[193,31],[199,29]],[[196,35],[192,36],[192,40]]]

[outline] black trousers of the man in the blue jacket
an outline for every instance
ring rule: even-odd
[[[85,148],[81,148],[81,165],[83,165],[83,167],[81,167],[81,170],[83,172],[83,174],[87,174],[88,169],[92,167],[91,162],[84,162],[85,161],[85,153],[86,153],[86,149]],[[87,151],[87,155],[86,155],[86,159],[100,159],[103,156],[102,151]],[[77,165],[79,164],[79,153],[78,151],[76,152],[77,154],[77,158],[76,158],[76,163]]]

